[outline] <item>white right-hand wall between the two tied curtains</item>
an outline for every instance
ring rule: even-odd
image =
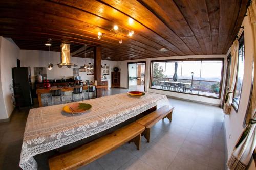
[[[249,25],[249,21],[248,21],[248,16],[244,18],[242,26],[244,26],[244,38],[245,38],[244,39],[245,69],[244,69],[241,99],[240,99],[238,112],[236,113],[236,111],[232,108],[230,115],[225,115],[225,119],[224,119],[228,157],[231,155],[234,145],[236,145],[236,142],[243,131],[243,121],[245,118],[245,114],[246,114],[246,110],[249,102],[250,89],[251,89],[251,83],[252,83],[253,39],[252,39],[251,26]],[[255,69],[255,66],[254,66],[254,69]]]

